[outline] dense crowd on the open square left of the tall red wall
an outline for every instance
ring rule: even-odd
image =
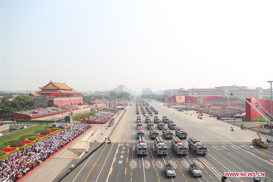
[[[210,113],[209,108],[203,108],[199,107],[196,109],[198,112]],[[245,112],[245,105],[237,105],[237,106],[223,106],[223,107],[217,107],[211,108],[211,115],[219,118],[234,118],[234,116],[238,113],[244,113]]]

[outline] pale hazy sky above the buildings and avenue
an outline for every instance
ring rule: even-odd
[[[273,1],[1,1],[1,90],[268,88]]]

